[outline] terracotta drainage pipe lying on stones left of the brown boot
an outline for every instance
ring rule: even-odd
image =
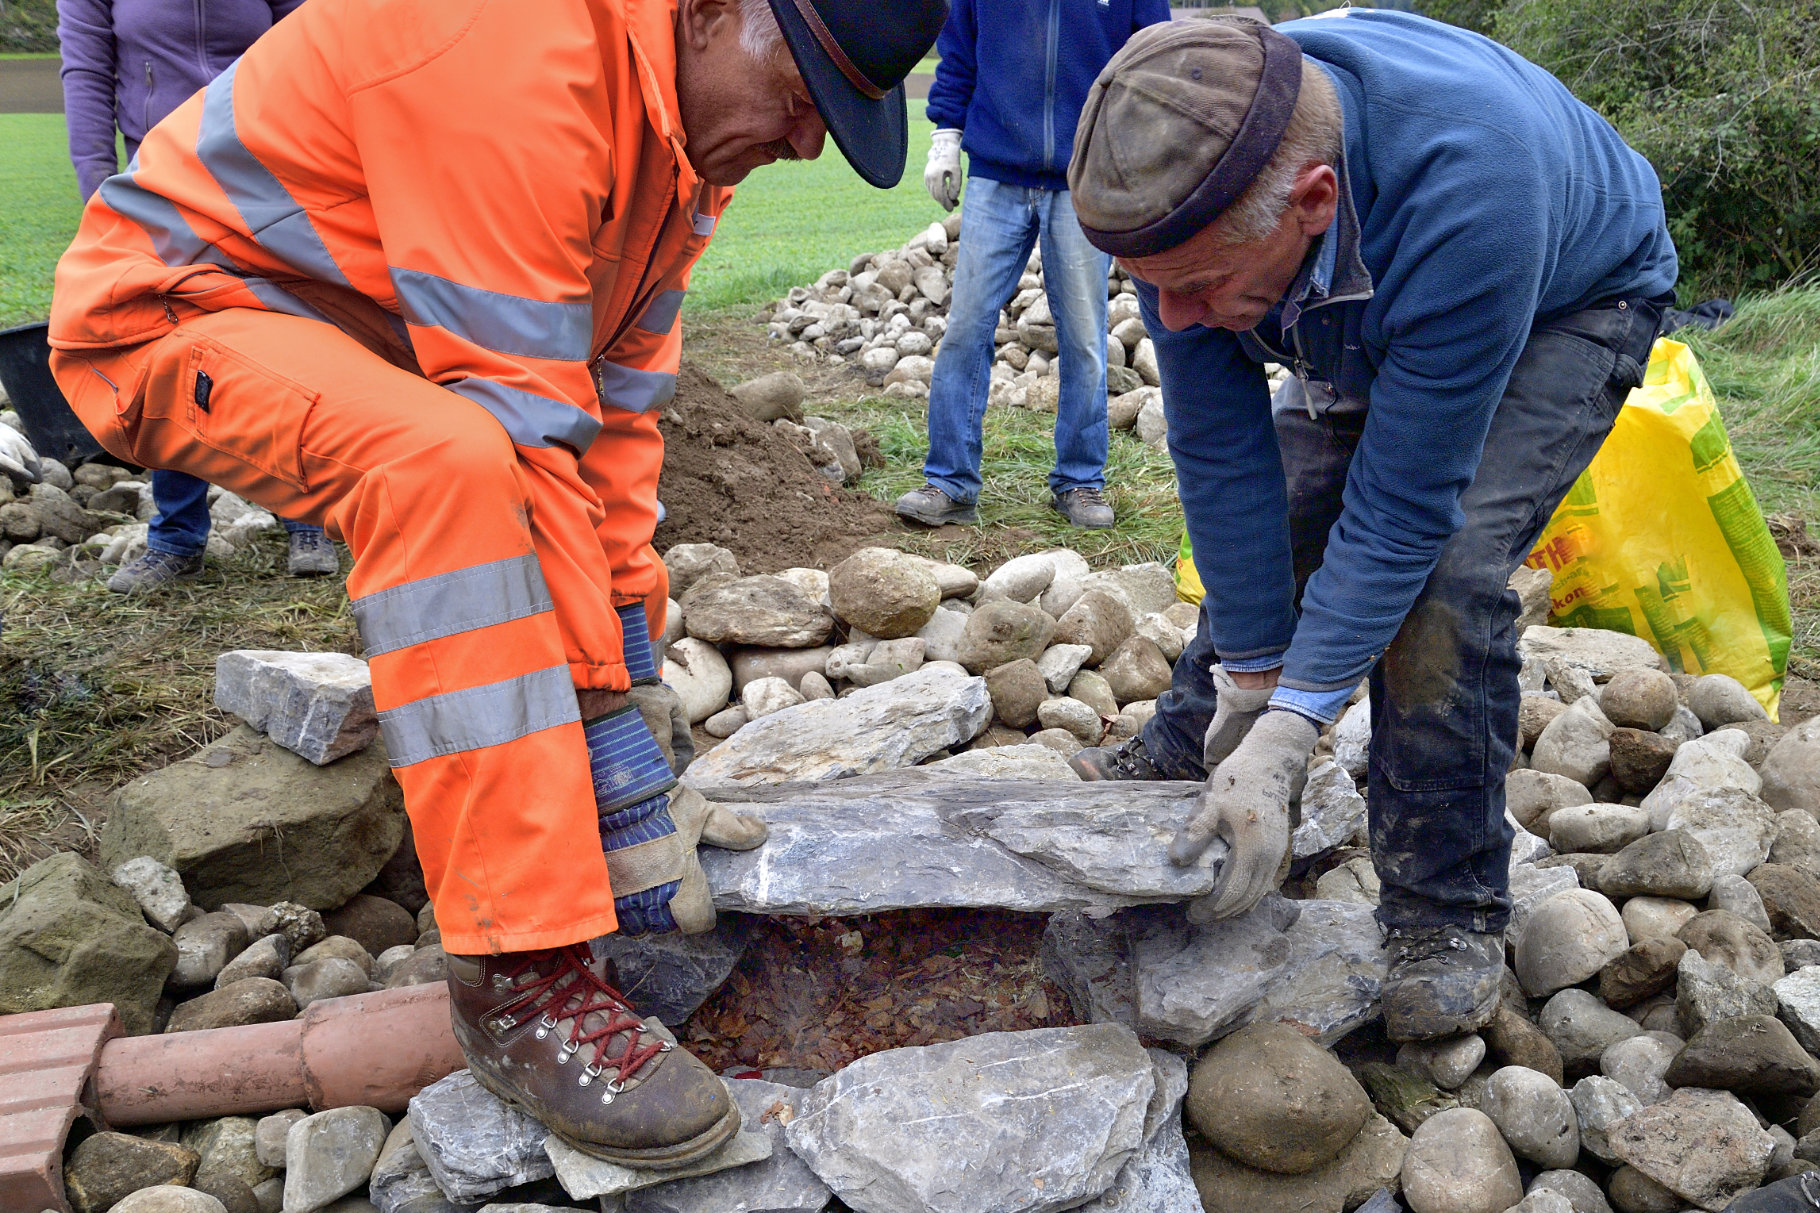
[[[328,998],[282,1024],[118,1036],[102,1045],[95,1096],[109,1126],[353,1104],[399,1113],[466,1064],[435,982]]]

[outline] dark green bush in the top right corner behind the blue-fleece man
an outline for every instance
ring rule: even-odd
[[[1820,24],[1809,5],[1509,0],[1494,33],[1656,166],[1684,299],[1820,270]]]

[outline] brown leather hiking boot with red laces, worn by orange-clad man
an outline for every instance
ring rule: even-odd
[[[586,943],[450,956],[455,1040],[482,1087],[575,1149],[626,1167],[675,1167],[739,1131],[713,1071],[601,976]]]

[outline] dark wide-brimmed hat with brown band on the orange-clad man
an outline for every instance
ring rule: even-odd
[[[770,0],[834,146],[879,189],[905,175],[905,76],[935,46],[948,0]]]

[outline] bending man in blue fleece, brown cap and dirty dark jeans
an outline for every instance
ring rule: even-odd
[[[1287,869],[1318,732],[1370,679],[1394,1040],[1498,1007],[1516,594],[1642,379],[1674,246],[1649,164],[1540,67],[1421,16],[1145,31],[1068,171],[1139,286],[1207,585],[1141,738],[1088,778],[1207,778],[1172,847],[1230,847],[1199,920]],[[1296,373],[1272,417],[1265,362]]]

